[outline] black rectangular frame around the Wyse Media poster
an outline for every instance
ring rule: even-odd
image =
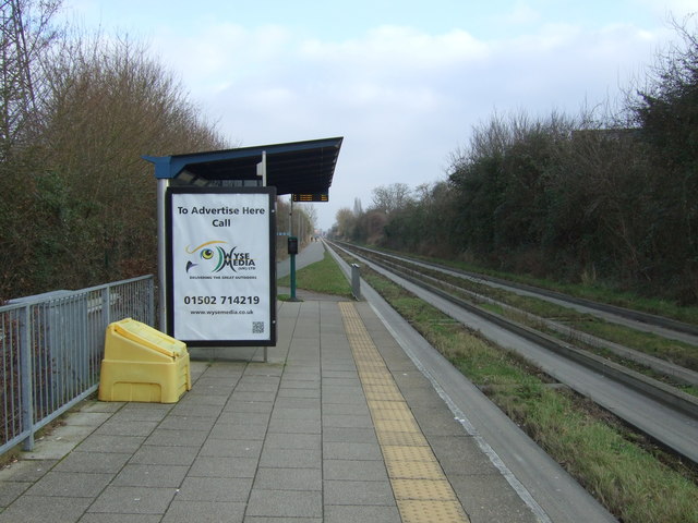
[[[172,195],[174,194],[264,194],[268,197],[267,233],[269,243],[269,271],[268,271],[268,337],[265,339],[249,339],[237,337],[234,339],[210,339],[210,340],[185,340],[184,343],[191,346],[275,346],[277,341],[277,314],[276,314],[276,187],[192,187],[192,186],[168,186],[165,197],[165,222],[166,222],[166,302],[167,302],[167,326],[169,336],[174,333],[174,253],[173,253],[173,226],[174,214],[172,208]]]

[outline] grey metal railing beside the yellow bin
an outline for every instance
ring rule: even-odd
[[[99,387],[105,331],[131,317],[155,323],[153,276],[56,291],[0,306],[0,454]]]

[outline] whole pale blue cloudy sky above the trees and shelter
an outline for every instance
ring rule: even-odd
[[[344,136],[328,229],[396,182],[445,178],[495,113],[569,115],[614,100],[698,0],[64,0],[181,78],[231,146]],[[144,151],[147,154],[148,151]]]

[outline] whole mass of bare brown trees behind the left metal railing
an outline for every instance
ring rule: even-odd
[[[154,273],[142,156],[231,147],[143,45],[59,24],[60,8],[0,0],[0,303]]]

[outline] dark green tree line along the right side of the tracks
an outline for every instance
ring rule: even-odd
[[[373,191],[332,234],[698,303],[698,32],[657,56],[618,110],[494,114],[447,178]]]

